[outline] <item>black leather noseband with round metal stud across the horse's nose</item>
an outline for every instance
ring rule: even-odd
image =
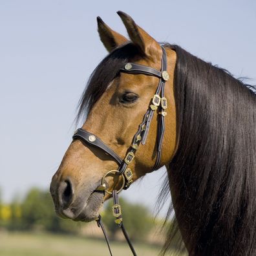
[[[102,149],[105,153],[112,156],[112,158],[114,158],[114,160],[116,160],[118,164],[122,164],[122,158],[120,158],[116,153],[114,153],[114,151],[112,151],[111,148],[105,145],[96,135],[80,128],[73,135],[73,140],[76,140],[78,138],[80,138],[89,145],[93,145],[94,147]]]

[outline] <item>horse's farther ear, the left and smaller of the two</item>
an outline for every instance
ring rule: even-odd
[[[97,23],[101,42],[109,52],[128,41],[127,38],[112,30],[100,17],[97,17]]]

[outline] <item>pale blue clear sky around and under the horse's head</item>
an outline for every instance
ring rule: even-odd
[[[107,55],[96,17],[127,36],[116,14],[157,41],[256,84],[256,1],[0,1],[0,187],[5,202],[48,189],[76,129],[78,100]],[[165,169],[122,196],[154,209]],[[165,206],[164,209],[167,207]]]

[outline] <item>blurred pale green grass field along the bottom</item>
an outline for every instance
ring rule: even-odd
[[[140,256],[158,255],[160,248],[134,244]],[[111,242],[114,255],[131,255],[123,242]],[[0,233],[1,256],[102,256],[109,255],[103,240],[48,233]]]

